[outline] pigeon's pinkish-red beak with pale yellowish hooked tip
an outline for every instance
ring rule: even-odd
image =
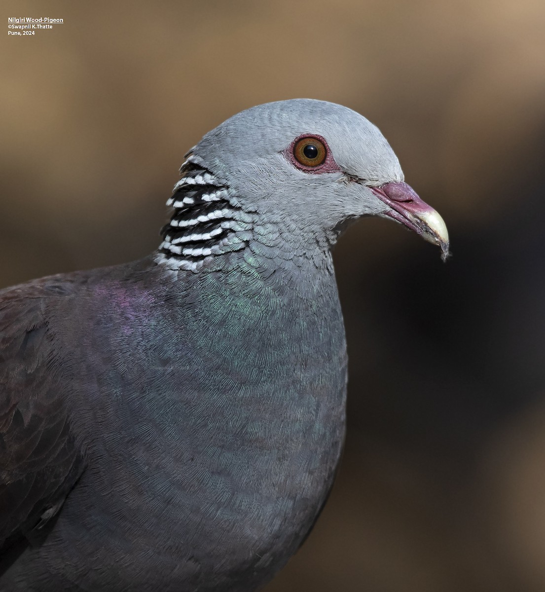
[[[382,215],[394,218],[409,229],[420,234],[423,239],[441,247],[441,258],[449,255],[449,233],[443,218],[428,204],[423,202],[407,183],[391,182],[369,189],[388,205],[389,210]]]

